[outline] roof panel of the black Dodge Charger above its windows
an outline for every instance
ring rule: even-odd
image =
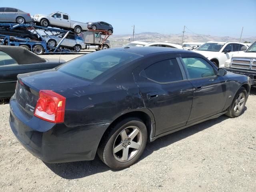
[[[120,48],[111,48],[111,50],[118,50],[118,51],[126,51],[142,56],[146,56],[149,54],[154,54],[154,53],[161,53],[161,52],[190,52],[187,50],[183,49],[177,49],[177,48],[169,48],[169,47],[120,47]]]

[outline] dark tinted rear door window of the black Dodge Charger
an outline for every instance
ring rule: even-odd
[[[161,83],[183,80],[176,58],[152,64],[144,70],[146,77]]]

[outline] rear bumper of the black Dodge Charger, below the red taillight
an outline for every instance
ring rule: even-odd
[[[10,100],[10,126],[20,143],[44,162],[60,163],[93,160],[105,126],[54,124],[19,108],[15,95]]]

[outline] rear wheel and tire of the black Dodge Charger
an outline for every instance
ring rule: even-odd
[[[127,118],[106,132],[97,153],[110,168],[124,169],[142,155],[147,142],[146,125],[138,118]]]

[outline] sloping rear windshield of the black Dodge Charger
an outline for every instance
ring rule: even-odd
[[[103,50],[71,60],[58,70],[78,78],[93,80],[114,66],[122,66],[140,57],[142,56],[124,51]]]

